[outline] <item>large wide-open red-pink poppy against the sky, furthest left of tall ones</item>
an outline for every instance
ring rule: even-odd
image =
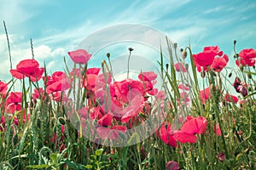
[[[36,59],[24,59],[16,66],[16,70],[10,70],[10,73],[15,78],[29,77],[32,82],[36,82],[41,79],[44,68],[39,68]]]

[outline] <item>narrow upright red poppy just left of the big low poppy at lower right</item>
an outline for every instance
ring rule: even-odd
[[[173,138],[174,133],[172,132],[172,127],[169,122],[163,122],[160,127],[160,139],[172,147],[176,147],[176,139]]]

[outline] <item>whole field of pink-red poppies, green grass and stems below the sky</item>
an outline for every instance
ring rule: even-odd
[[[108,52],[94,68],[74,49],[53,73],[20,60],[0,82],[0,169],[255,169],[255,49],[166,44],[168,62],[137,78],[124,49],[121,81]]]

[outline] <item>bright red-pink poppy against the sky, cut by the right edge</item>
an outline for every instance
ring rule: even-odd
[[[236,65],[253,66],[255,65],[256,50],[253,48],[243,49],[239,53],[239,57],[240,58],[236,60]]]

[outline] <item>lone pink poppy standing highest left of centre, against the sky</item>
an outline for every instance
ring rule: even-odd
[[[87,51],[85,51],[84,49],[70,51],[67,54],[70,56],[70,58],[73,60],[74,63],[82,64],[82,65],[86,64],[92,55],[92,54],[88,54]]]

